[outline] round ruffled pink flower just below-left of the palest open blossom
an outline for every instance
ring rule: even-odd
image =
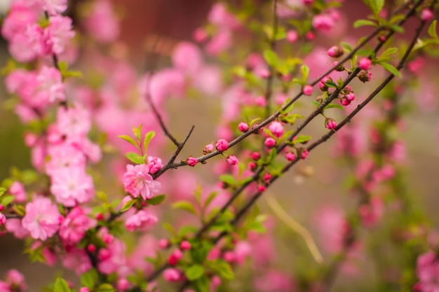
[[[60,212],[47,197],[36,197],[26,205],[26,215],[22,225],[34,239],[46,240],[58,231]]]

